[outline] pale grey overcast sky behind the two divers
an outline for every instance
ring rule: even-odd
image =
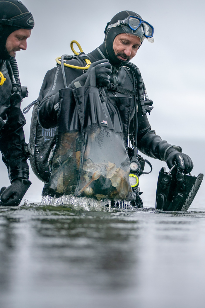
[[[71,40],[77,40],[88,53],[103,42],[104,28],[112,16],[132,10],[154,27],[154,43],[144,41],[131,60],[140,68],[154,102],[148,116],[152,129],[170,143],[204,140],[204,1],[22,2],[35,20],[27,50],[16,56],[21,83],[29,89],[22,109],[38,97],[45,73],[56,65],[55,58],[72,54]],[[31,113],[26,115],[27,142]]]

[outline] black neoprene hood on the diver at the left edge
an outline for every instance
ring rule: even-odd
[[[18,29],[33,29],[34,18],[20,0],[0,0],[0,59],[10,59],[8,36]]]

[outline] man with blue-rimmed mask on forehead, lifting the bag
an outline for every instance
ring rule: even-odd
[[[135,29],[136,21],[138,26]],[[104,87],[107,96],[131,97],[129,112],[129,139],[135,136],[135,91],[136,80],[128,65],[136,55],[142,42],[147,39],[153,42],[153,27],[132,11],[122,11],[116,14],[105,28],[105,39],[100,47],[87,54],[88,59],[96,66],[96,83]],[[108,59],[109,63],[105,64]],[[104,61],[103,61],[104,60]],[[67,63],[79,66],[79,58],[74,58]],[[102,63],[102,64],[101,64]],[[82,64],[80,64],[82,66]],[[101,69],[99,66],[101,66]],[[69,88],[78,88],[85,85],[86,78],[82,70],[65,67],[65,77]],[[57,125],[59,90],[65,87],[61,68],[59,66],[48,71],[45,75],[39,99],[38,121],[45,129]],[[131,93],[132,92],[132,93]],[[168,144],[152,130],[146,114],[141,112],[140,97],[138,95],[137,111],[137,143],[136,147],[147,156],[166,161],[169,168],[174,162],[181,164],[183,159],[184,173],[191,172],[193,163],[191,158],[181,153],[180,147]],[[129,145],[127,145],[129,146]],[[128,148],[129,149],[129,148]]]

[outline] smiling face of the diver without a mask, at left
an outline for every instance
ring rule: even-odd
[[[16,56],[16,51],[21,49],[26,50],[26,40],[30,37],[31,30],[19,29],[12,32],[6,40],[6,50],[11,57]]]

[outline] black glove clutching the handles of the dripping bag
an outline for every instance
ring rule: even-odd
[[[97,87],[107,87],[110,84],[110,75],[112,73],[112,66],[108,59],[96,61],[90,65],[87,72],[69,84],[68,88],[76,89],[79,87],[90,86],[91,70],[95,68],[95,78]]]

